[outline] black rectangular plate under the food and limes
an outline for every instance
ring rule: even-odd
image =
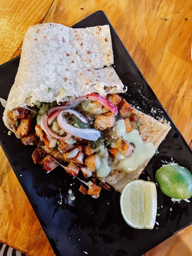
[[[192,152],[188,144],[147,84],[104,12],[97,11],[72,27],[106,24],[111,30],[114,69],[128,87],[122,97],[154,118],[159,116],[169,120],[172,126],[159,146],[159,154],[151,159],[140,178],[147,180],[150,177],[151,181],[155,181],[155,171],[162,165],[161,159],[170,161],[171,157],[191,171]],[[20,57],[17,57],[0,66],[0,96],[4,99],[7,99],[14,83],[19,60]],[[3,111],[0,105],[1,116]],[[155,225],[153,230],[133,229],[121,215],[119,192],[113,188],[111,191],[102,189],[98,199],[81,194],[78,179],[73,179],[59,167],[46,174],[33,163],[31,154],[34,147],[24,146],[13,133],[8,136],[7,132],[1,118],[1,146],[57,256],[86,255],[84,252],[90,256],[142,255],[192,223],[192,204],[185,201],[173,204],[157,187],[157,212],[160,216],[156,221],[159,226]],[[67,203],[69,189],[76,196],[74,205]]]

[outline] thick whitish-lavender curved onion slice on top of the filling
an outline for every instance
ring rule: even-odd
[[[76,136],[85,140],[90,140],[90,141],[98,140],[98,138],[101,136],[100,131],[95,129],[90,129],[90,128],[77,128],[75,126],[68,124],[65,117],[63,117],[63,114],[65,112],[66,110],[62,110],[57,116],[57,122],[62,130],[72,134],[73,136]]]

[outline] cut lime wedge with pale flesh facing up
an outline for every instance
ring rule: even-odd
[[[120,198],[124,220],[133,228],[153,229],[157,213],[155,183],[133,180],[123,188]]]

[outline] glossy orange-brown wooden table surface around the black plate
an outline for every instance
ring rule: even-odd
[[[191,0],[3,0],[0,64],[20,54],[27,28],[44,17],[44,22],[71,26],[96,10],[106,13],[189,144],[192,139]],[[29,256],[55,255],[4,152],[0,151],[0,241]],[[191,256],[191,234],[192,226],[189,226],[145,256]]]

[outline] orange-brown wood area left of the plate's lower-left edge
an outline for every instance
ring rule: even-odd
[[[28,256],[54,256],[25,192],[0,148],[0,241]]]

